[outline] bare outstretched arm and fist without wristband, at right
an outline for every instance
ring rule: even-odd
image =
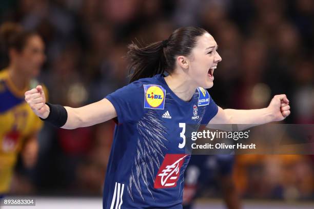
[[[290,114],[289,100],[285,94],[274,96],[267,108],[257,110],[234,110],[218,107],[218,113],[210,124],[242,124],[241,130],[272,121],[281,121]],[[239,130],[240,131],[240,130]]]

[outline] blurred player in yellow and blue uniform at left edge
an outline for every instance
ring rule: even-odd
[[[4,23],[0,27],[0,43],[8,61],[7,67],[0,71],[1,196],[9,192],[20,152],[26,168],[36,162],[37,134],[42,121],[25,102],[24,92],[38,85],[34,78],[46,57],[42,38],[17,24]]]

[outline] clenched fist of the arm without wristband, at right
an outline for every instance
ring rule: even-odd
[[[272,113],[273,121],[281,121],[290,115],[289,100],[285,94],[274,96],[268,109]]]

